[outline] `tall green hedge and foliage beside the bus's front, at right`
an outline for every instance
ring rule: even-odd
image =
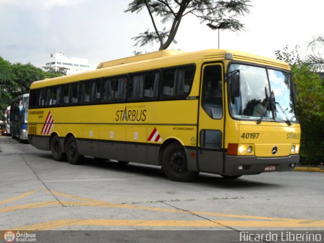
[[[314,66],[300,58],[298,46],[275,51],[276,57],[291,65],[297,93],[297,114],[302,130],[301,164],[319,165],[324,157],[324,87]],[[307,60],[307,59],[306,59]]]

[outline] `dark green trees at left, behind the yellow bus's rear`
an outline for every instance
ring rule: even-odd
[[[43,70],[31,63],[11,64],[0,57],[0,119],[3,118],[4,111],[12,99],[18,95],[29,93],[29,86],[32,82],[45,77],[62,75],[66,75],[66,70]]]

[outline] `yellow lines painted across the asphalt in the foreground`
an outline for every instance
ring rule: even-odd
[[[101,225],[101,226],[143,226],[143,227],[324,227],[324,220],[309,220],[309,219],[288,219],[288,218],[274,218],[274,217],[261,217],[261,216],[249,216],[249,215],[234,215],[234,214],[220,214],[211,212],[199,212],[199,211],[184,211],[179,209],[165,209],[155,207],[145,207],[137,205],[127,204],[114,204],[107,201],[101,201],[86,197],[73,196],[64,194],[57,191],[49,191],[43,188],[46,192],[50,192],[54,195],[62,196],[65,198],[71,198],[75,201],[41,201],[38,203],[31,203],[25,205],[18,205],[12,207],[0,208],[0,213],[24,210],[44,208],[48,206],[67,206],[67,207],[107,207],[107,208],[121,208],[121,209],[140,209],[149,211],[160,211],[168,213],[181,213],[190,215],[208,215],[216,217],[226,218],[242,218],[242,219],[254,219],[254,220],[109,220],[109,219],[62,219],[49,222],[43,222],[39,224],[26,225],[14,230],[46,230],[55,229],[72,225]],[[21,199],[23,197],[33,194],[35,191],[28,191],[21,195],[12,197],[7,200],[0,201],[0,204],[6,204],[14,200]]]

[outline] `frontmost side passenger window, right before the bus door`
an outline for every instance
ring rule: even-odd
[[[194,66],[165,69],[163,72],[162,96],[189,95],[194,76]]]

